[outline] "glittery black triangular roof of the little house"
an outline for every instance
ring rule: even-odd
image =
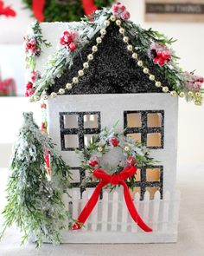
[[[55,79],[55,83],[48,90],[57,92],[65,88],[67,82],[72,82],[79,69],[83,68],[87,55],[92,52],[92,45],[95,44],[97,34],[90,43],[81,51],[79,56],[73,59],[73,67],[64,71],[61,78]],[[90,68],[86,70],[86,75],[80,78],[80,82],[67,91],[67,94],[124,94],[124,93],[161,93],[161,89],[156,88],[154,82],[149,80],[148,75],[143,74],[143,69],[137,66],[137,62],[132,59],[131,53],[126,49],[126,43],[118,32],[118,27],[112,24],[107,29],[107,34],[103,42],[99,44],[98,52],[94,54],[94,59],[90,62]],[[156,69],[148,56],[139,56],[143,61],[147,61],[150,72],[156,75]],[[163,84],[167,84],[164,75],[156,75],[156,79]],[[168,84],[167,84],[168,85]]]

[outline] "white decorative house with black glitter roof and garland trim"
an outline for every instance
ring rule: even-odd
[[[81,186],[87,170],[76,149],[89,147],[93,135],[116,123],[118,133],[150,149],[157,162],[137,168],[130,193],[153,231],[144,233],[131,220],[118,187],[112,194],[103,189],[85,228],[63,237],[72,243],[175,242],[177,95],[200,104],[201,93],[186,86],[190,74],[175,65],[167,48],[171,39],[119,15],[117,10],[101,10],[85,22],[41,23],[41,35],[52,47],[43,48],[36,58],[41,78],[34,83],[31,101],[48,100],[48,135],[73,172],[73,196],[65,194],[64,200],[75,219],[99,183]],[[122,154],[108,152],[104,157],[117,164]]]

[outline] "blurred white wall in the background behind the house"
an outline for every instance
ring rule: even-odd
[[[6,19],[0,17],[0,44],[1,43],[22,43],[22,36],[28,24],[31,21],[29,10],[22,10],[21,0],[6,0],[6,3],[12,3],[17,11],[16,18]],[[204,75],[204,23],[143,23],[143,0],[124,0],[121,1],[131,11],[131,19],[135,23],[141,23],[145,28],[153,27],[160,30],[168,36],[178,39],[174,44],[174,49],[181,57],[183,69],[194,70]],[[3,58],[3,56],[0,56]],[[14,59],[14,62],[16,59]],[[16,72],[19,72],[16,69]],[[5,100],[5,99],[4,99]],[[0,153],[1,143],[11,143],[15,137],[15,131],[18,126],[18,119],[22,109],[26,109],[22,99],[18,102],[6,102],[0,98]],[[33,108],[33,107],[31,107]],[[6,114],[5,114],[6,111]],[[10,117],[12,116],[12,117]],[[179,163],[204,163],[204,107],[194,107],[194,104],[180,101],[179,112]],[[8,133],[10,127],[10,134]],[[2,156],[1,156],[2,158]],[[0,167],[8,164],[8,157],[0,159]]]

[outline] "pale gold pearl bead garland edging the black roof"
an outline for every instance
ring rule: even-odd
[[[143,68],[143,73],[146,74],[146,75],[149,75],[150,81],[152,81],[152,82],[155,81],[155,80],[156,80],[155,75],[150,74],[150,69],[148,69],[147,67],[144,67],[144,66],[143,66],[143,61],[139,60],[139,59],[138,59],[137,52],[133,51],[133,50],[134,50],[134,47],[129,43],[129,37],[128,37],[128,36],[125,36],[125,30],[124,30],[124,28],[121,26],[121,23],[122,23],[121,20],[120,20],[120,19],[117,19],[116,16],[112,15],[112,16],[109,18],[109,20],[105,20],[105,22],[104,22],[105,28],[107,28],[108,26],[110,26],[111,22],[115,22],[116,25],[119,27],[119,33],[123,36],[123,41],[124,41],[124,43],[127,43],[127,50],[130,51],[130,52],[132,52],[132,54],[131,54],[132,58],[133,58],[135,61],[137,61],[137,66],[140,67],[140,68]],[[90,53],[90,54],[87,56],[87,62],[84,62],[84,63],[83,63],[83,68],[84,68],[84,69],[88,69],[88,68],[89,68],[89,62],[93,60],[93,54],[98,51],[98,47],[97,47],[97,46],[99,45],[99,43],[102,43],[102,39],[103,39],[104,36],[106,35],[106,30],[105,30],[105,28],[100,30],[100,35],[101,35],[101,36],[98,36],[98,37],[96,38],[96,43],[97,43],[97,44],[92,46],[92,53]],[[69,83],[69,82],[68,82],[68,83],[66,84],[66,88],[65,88],[65,89],[70,90],[70,89],[73,88],[73,84],[76,84],[76,83],[79,82],[79,78],[84,75],[84,69],[80,69],[80,70],[78,71],[78,76],[73,77],[73,80],[72,80],[73,82],[72,82],[72,83]],[[156,86],[156,88],[162,88],[164,93],[169,92],[170,95],[172,95],[172,96],[176,96],[176,95],[177,95],[177,93],[176,93],[175,90],[169,91],[169,87],[168,87],[168,86],[163,86],[163,85],[162,85],[162,82],[155,81],[155,86]],[[64,94],[65,94],[65,89],[59,89],[58,94],[64,95]],[[179,96],[180,96],[180,97],[184,97],[184,95],[185,95],[184,92],[180,92],[180,93],[179,93]],[[57,93],[55,93],[55,92],[52,92],[52,93],[51,93],[51,97],[54,98],[54,97],[56,97],[56,96],[57,96]],[[191,98],[194,97],[194,103],[195,103],[195,105],[201,105],[201,93],[200,93],[200,92],[195,92],[195,94],[194,94],[194,92],[188,91],[188,97],[191,97]],[[44,99],[44,100],[47,100],[47,99],[48,99],[48,95],[43,94],[43,95],[41,95],[41,98]],[[34,99],[34,101],[36,102],[36,101],[39,101],[39,100],[40,100],[40,97],[39,97],[38,95],[35,95],[33,99]],[[128,152],[129,149],[130,149],[129,147],[124,147],[124,151],[126,151],[126,152]],[[99,152],[101,152],[101,151],[103,150],[103,148],[102,148],[102,147],[99,147],[98,150],[99,150]]]

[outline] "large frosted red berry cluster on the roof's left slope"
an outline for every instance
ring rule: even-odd
[[[67,49],[73,51],[77,49],[76,41],[78,39],[78,33],[76,31],[64,31],[61,36],[60,43]]]

